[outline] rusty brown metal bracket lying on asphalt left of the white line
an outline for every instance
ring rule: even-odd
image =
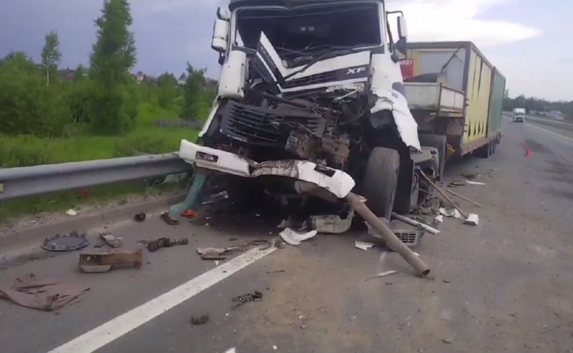
[[[142,249],[134,251],[115,250],[109,252],[81,253],[79,266],[85,273],[108,272],[113,267],[132,266],[141,268],[143,264]]]

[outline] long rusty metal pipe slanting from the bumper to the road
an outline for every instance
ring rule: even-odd
[[[350,203],[351,207],[354,208],[356,212],[362,218],[370,223],[372,228],[376,229],[380,236],[386,241],[388,247],[394,249],[396,252],[406,260],[407,263],[410,264],[411,267],[418,273],[419,276],[425,277],[430,273],[430,268],[422,261],[418,256],[416,256],[415,252],[411,251],[406,244],[402,243],[400,239],[390,230],[390,228],[386,227],[384,224],[360,199],[358,195],[355,193],[349,193],[346,196],[346,200]]]

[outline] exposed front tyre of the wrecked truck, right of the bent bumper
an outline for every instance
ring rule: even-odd
[[[372,149],[364,170],[362,189],[366,205],[378,217],[390,220],[399,170],[400,156],[397,150],[385,147]]]

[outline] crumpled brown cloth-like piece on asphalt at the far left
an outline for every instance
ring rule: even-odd
[[[26,308],[54,311],[79,301],[85,291],[89,288],[53,278],[37,278],[31,273],[16,279],[10,288],[0,288],[0,298]]]

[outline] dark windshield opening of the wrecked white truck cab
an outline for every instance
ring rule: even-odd
[[[356,26],[351,26],[349,19],[352,17],[352,11],[355,11],[356,14],[360,13],[360,11],[368,11],[370,18],[360,17],[360,19],[358,19],[358,16],[355,16],[357,17],[357,21],[355,22],[364,25],[361,29],[356,28]],[[245,18],[244,16],[248,16],[249,18]],[[342,21],[341,18],[345,18],[346,21]],[[248,31],[244,29],[241,33],[241,19],[253,22],[260,21],[260,27],[262,28],[259,31],[255,29],[251,33],[248,33]],[[276,23],[280,23],[281,20],[283,25],[277,25]],[[269,23],[271,21],[274,22]],[[309,34],[307,37],[300,33],[292,33],[293,27],[299,26],[300,23],[305,23],[305,21],[309,24],[312,23],[312,21],[316,21],[317,24],[323,27],[320,29],[317,26],[317,31],[313,34]],[[297,52],[299,55],[301,53],[313,55],[317,52],[318,54],[324,53],[324,51],[320,52],[321,49],[332,50],[347,48],[356,50],[379,48],[378,51],[383,51],[386,43],[385,26],[384,6],[379,0],[326,2],[320,5],[297,6],[293,9],[288,9],[283,6],[245,6],[234,10],[231,15],[229,42],[231,46],[245,47],[246,49],[254,50],[258,43],[260,31],[265,31],[265,34],[269,37],[273,46],[284,53],[290,51],[293,54]],[[266,29],[264,27],[266,27]],[[373,32],[371,28],[375,28],[375,31]],[[291,30],[291,33],[288,33],[288,29]],[[328,34],[320,34],[320,30],[327,30]],[[371,38],[365,38],[361,30],[362,33],[372,33]],[[295,39],[295,35],[299,34],[301,39]],[[292,38],[289,38],[289,35],[292,35]],[[346,38],[344,37],[345,35]],[[352,43],[352,39],[354,38],[357,40]],[[320,39],[322,39],[322,41]],[[367,40],[364,41],[364,39]],[[287,40],[291,43],[286,44]],[[312,43],[312,41],[315,40],[317,45],[313,45]]]

